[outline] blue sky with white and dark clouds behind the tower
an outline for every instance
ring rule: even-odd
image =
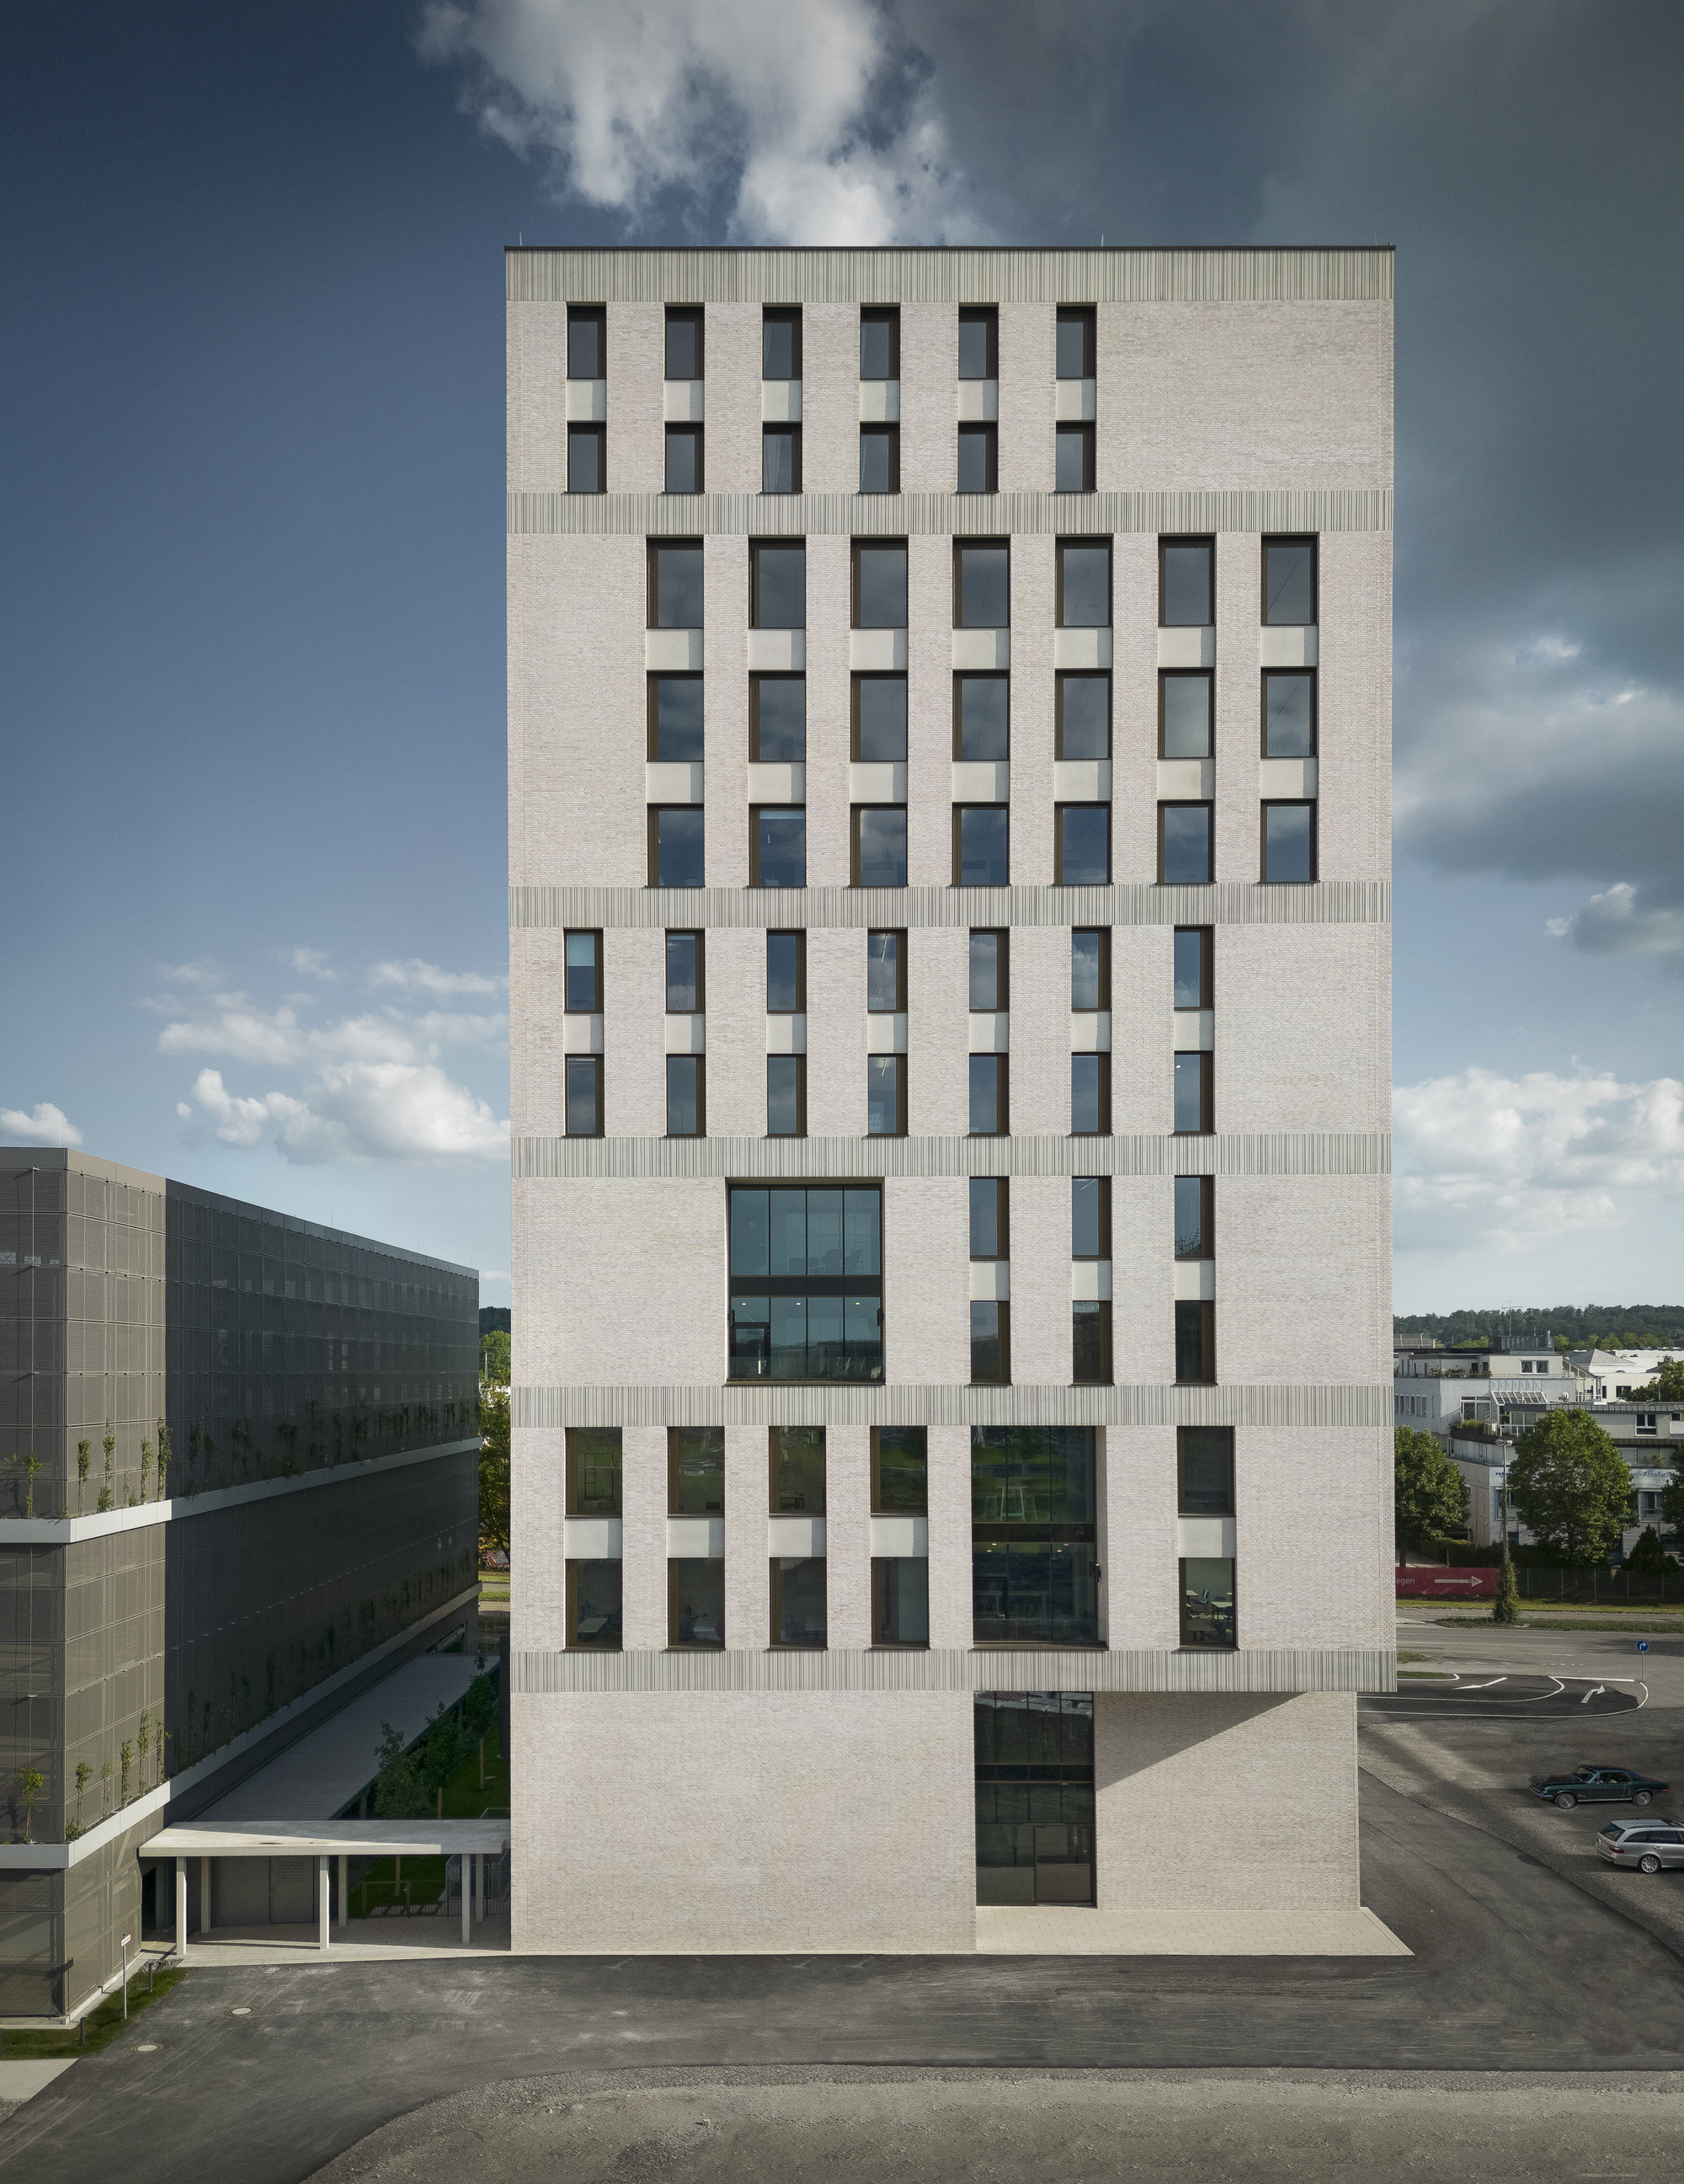
[[[507,242],[1394,242],[1398,1310],[1684,1297],[1671,0],[0,17],[0,1142],[509,1297]]]

